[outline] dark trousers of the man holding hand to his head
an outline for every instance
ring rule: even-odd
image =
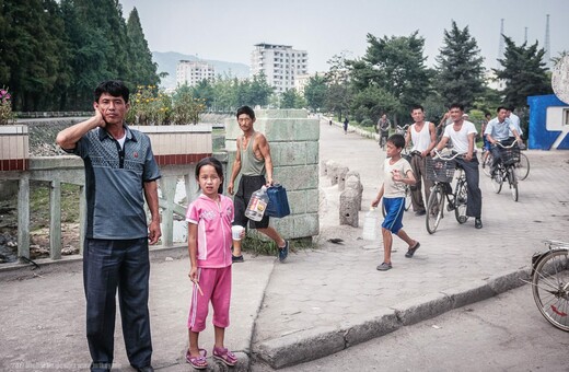
[[[85,240],[83,286],[92,370],[106,370],[113,363],[117,289],[128,360],[135,368],[150,365],[149,277],[147,237]]]

